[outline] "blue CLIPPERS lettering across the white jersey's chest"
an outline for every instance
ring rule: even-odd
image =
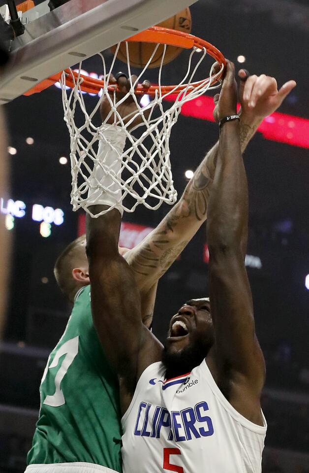
[[[211,436],[214,426],[211,418],[205,415],[208,410],[205,401],[171,413],[165,407],[140,403],[134,435],[159,439],[161,433],[166,432],[168,440],[175,439],[177,442]]]

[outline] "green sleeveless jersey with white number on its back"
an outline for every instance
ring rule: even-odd
[[[90,286],[48,359],[40,396],[28,464],[86,462],[122,472],[118,379],[93,326]]]

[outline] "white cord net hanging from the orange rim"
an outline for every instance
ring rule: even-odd
[[[135,94],[135,88],[137,84],[143,82],[144,78],[147,78],[145,72],[152,62],[159,44],[157,44],[149,62],[133,83],[129,50],[126,43],[127,74],[130,90],[121,100],[117,101],[116,91],[111,92],[110,88],[108,89],[108,84],[119,46],[120,44],[116,49],[109,70],[107,70],[103,54],[98,54],[102,62],[102,74],[105,77],[105,82],[104,87],[98,94],[96,105],[90,112],[87,110],[82,93],[84,81],[81,76],[82,63],[79,65],[77,74],[73,75],[72,72],[69,74],[74,81],[72,89],[66,87],[67,73],[63,72],[61,80],[64,120],[70,133],[71,203],[73,210],[82,207],[93,217],[98,217],[116,206],[122,207],[126,212],[133,212],[139,204],[155,210],[163,202],[168,204],[176,202],[177,192],[173,185],[169,149],[171,129],[177,122],[181,107],[185,102],[196,99],[210,88],[218,87],[218,84],[215,86],[211,84],[223,69],[223,65],[219,71],[218,68],[215,69],[217,63],[214,62],[210,69],[210,75],[200,83],[198,82],[196,87],[192,86],[192,84],[197,84],[197,82],[194,82],[196,73],[205,57],[208,56],[205,48],[201,50],[194,47],[190,52],[188,67],[181,82],[171,91],[164,93],[164,86],[161,85],[162,67],[166,52],[166,46],[164,46],[161,65],[158,68],[158,88],[155,91],[155,96],[150,97],[149,103],[145,104],[144,100],[140,101],[140,97]],[[166,103],[165,99],[170,95],[174,96],[180,85],[185,85],[184,90],[176,94],[175,100]],[[124,117],[122,116],[123,112],[120,113],[120,107],[128,99],[135,102],[136,110]],[[96,126],[94,122],[99,116],[101,103],[106,100],[110,104],[110,113],[103,123],[98,123],[98,126]],[[82,120],[81,116],[83,117]],[[136,120],[137,118],[138,120]],[[121,166],[117,168],[117,171],[113,169],[113,166],[108,166],[104,159],[98,155],[99,142],[103,140],[108,143],[106,130],[113,126],[111,123],[121,127],[126,136],[124,152],[116,151],[118,161],[121,162]],[[111,147],[114,150],[113,145]],[[97,167],[101,168],[99,179],[93,178],[93,169]],[[96,173],[96,175],[98,174]],[[108,210],[93,215],[89,210],[90,193],[93,194],[94,191],[97,191],[96,193],[100,193],[106,198],[112,197],[115,201],[115,184],[121,189],[121,192],[117,193],[117,202]]]

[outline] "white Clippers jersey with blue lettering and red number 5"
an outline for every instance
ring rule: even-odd
[[[122,425],[124,473],[260,473],[264,427],[225,399],[205,360],[164,380],[162,363],[140,377]]]

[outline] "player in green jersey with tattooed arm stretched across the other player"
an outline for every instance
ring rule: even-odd
[[[239,75],[247,76],[244,70]],[[119,86],[125,87],[125,81],[120,77]],[[271,87],[271,83],[275,85],[273,78],[247,79],[251,89],[259,83],[262,94],[250,106],[242,99],[244,83],[241,86],[243,151],[262,119],[278,108],[279,99],[283,100]],[[103,106],[101,113],[107,116],[108,108]],[[147,327],[152,321],[158,279],[206,220],[217,150],[218,144],[157,228],[134,249],[120,248],[134,273]],[[85,244],[84,236],[77,238],[56,263],[58,284],[74,307],[43,374],[41,408],[27,473],[122,472],[119,386],[93,327]]]

